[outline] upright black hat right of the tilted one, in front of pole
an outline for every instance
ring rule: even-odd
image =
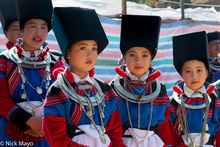
[[[132,47],[145,47],[157,53],[161,18],[159,16],[122,15],[120,49],[124,55]]]

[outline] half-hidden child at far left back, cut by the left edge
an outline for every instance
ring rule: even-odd
[[[15,0],[0,0],[0,20],[2,29],[8,42],[7,49],[11,49],[17,38],[21,37]]]

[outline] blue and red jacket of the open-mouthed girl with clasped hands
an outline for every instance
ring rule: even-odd
[[[11,50],[15,49],[13,47]],[[24,131],[29,128],[25,123],[32,116],[31,113],[25,111],[17,105],[20,102],[27,102],[27,99],[23,99],[21,76],[18,73],[17,64],[12,60],[9,51],[6,50],[0,54],[0,140],[1,141],[24,141],[35,142],[36,146],[47,146],[45,138],[33,138],[29,135],[25,135]],[[64,63],[61,60],[61,54],[57,51],[50,51],[51,63],[50,71],[55,68],[63,67]],[[23,58],[23,55],[19,55]],[[44,60],[39,58],[39,61]],[[42,80],[45,76],[45,68],[33,69],[22,67],[27,81],[36,88],[40,87]],[[55,78],[51,75],[50,84],[55,81]],[[25,90],[27,97],[30,101],[40,101],[45,99],[46,88],[45,82],[42,83],[42,94],[38,94],[36,90],[30,87],[27,82],[25,83]],[[37,142],[36,142],[37,141]]]

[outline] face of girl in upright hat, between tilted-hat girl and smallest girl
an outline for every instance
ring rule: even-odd
[[[144,47],[132,47],[125,53],[124,59],[131,74],[141,77],[150,67],[151,53]]]

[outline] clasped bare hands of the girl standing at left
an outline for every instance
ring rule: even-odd
[[[25,134],[29,134],[33,137],[43,137],[44,133],[42,131],[42,118],[32,116],[26,122],[30,129],[25,131]]]

